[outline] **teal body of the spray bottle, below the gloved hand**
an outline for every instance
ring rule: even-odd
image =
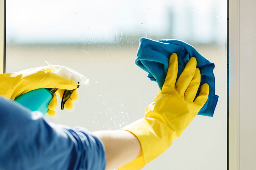
[[[48,89],[41,88],[22,94],[16,97],[14,101],[20,103],[22,106],[30,109],[31,111],[40,111],[46,115],[48,111],[48,104],[52,100],[52,95],[54,93]]]

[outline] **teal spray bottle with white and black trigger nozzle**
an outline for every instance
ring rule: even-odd
[[[89,83],[89,79],[71,68],[65,66],[50,65],[47,61],[46,63],[48,64],[53,73],[75,81],[78,84],[77,88],[82,83]],[[54,72],[53,67],[58,67],[58,70]],[[41,88],[32,90],[16,97],[14,101],[20,103],[24,107],[27,107],[31,111],[40,111],[45,115],[48,111],[48,104],[52,100],[52,96],[57,90],[57,88]],[[75,89],[64,91],[60,106],[62,110],[64,109],[65,102],[69,99],[70,95],[74,90]]]

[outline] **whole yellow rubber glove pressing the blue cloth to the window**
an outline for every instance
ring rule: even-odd
[[[119,170],[137,170],[168,149],[206,103],[208,84],[201,86],[199,96],[194,100],[201,81],[196,68],[196,58],[191,57],[177,83],[178,57],[173,53],[162,91],[145,112],[145,118],[124,127],[134,134],[142,147],[142,156],[119,167]]]

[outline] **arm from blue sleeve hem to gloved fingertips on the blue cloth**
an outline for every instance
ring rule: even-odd
[[[107,170],[118,166],[119,170],[141,169],[182,134],[208,99],[208,84],[201,86],[196,97],[201,83],[196,66],[196,59],[190,58],[176,82],[178,60],[172,54],[164,86],[146,108],[145,118],[122,128],[123,132],[95,132],[106,148]]]

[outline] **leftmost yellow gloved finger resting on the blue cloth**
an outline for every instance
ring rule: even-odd
[[[178,74],[178,56],[176,53],[173,53],[169,59],[169,66],[167,70],[167,75],[165,78],[164,86],[162,87],[162,91],[167,87],[171,87],[175,89],[175,83]]]

